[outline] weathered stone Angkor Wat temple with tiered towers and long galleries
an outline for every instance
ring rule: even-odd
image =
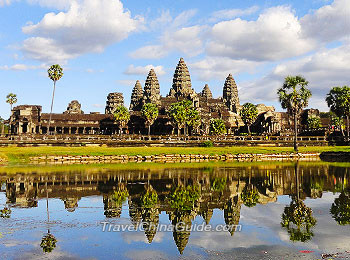
[[[223,85],[222,97],[214,98],[209,86],[206,84],[200,93],[192,88],[189,70],[181,58],[176,66],[173,84],[166,97],[160,95],[160,86],[157,75],[150,70],[144,88],[140,81],[136,81],[132,90],[130,103],[130,121],[124,129],[125,133],[144,134],[146,128],[141,117],[141,108],[145,103],[154,103],[159,108],[159,116],[152,125],[152,134],[166,135],[174,133],[174,128],[167,110],[172,103],[181,100],[190,100],[199,111],[201,126],[197,134],[209,133],[209,121],[212,118],[224,120],[227,133],[236,133],[244,126],[239,115],[241,105],[239,102],[236,82],[229,74]],[[115,109],[124,105],[122,93],[110,93],[107,97],[105,114],[91,112],[84,114],[77,100],[72,101],[62,114],[53,114],[50,124],[50,133],[53,134],[115,134],[118,132],[114,122]],[[255,132],[278,133],[291,129],[291,122],[284,112],[276,112],[272,106],[258,104],[259,116],[252,128]],[[48,133],[50,115],[42,113],[39,105],[21,105],[12,110],[10,125],[12,134],[46,134]],[[193,133],[192,133],[193,134]]]

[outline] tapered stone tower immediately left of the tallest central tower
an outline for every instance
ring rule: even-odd
[[[160,105],[160,88],[154,69],[150,70],[145,82],[142,104],[145,103]]]

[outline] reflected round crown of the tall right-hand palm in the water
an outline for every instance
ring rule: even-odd
[[[313,237],[311,228],[316,225],[316,219],[302,200],[292,200],[284,208],[281,225],[287,229],[291,241],[306,242]]]

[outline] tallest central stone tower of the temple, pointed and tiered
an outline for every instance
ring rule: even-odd
[[[188,71],[187,65],[183,58],[180,59],[176,66],[173,86],[170,89],[168,96],[175,98],[192,98],[195,96],[195,92],[192,89],[190,72]]]

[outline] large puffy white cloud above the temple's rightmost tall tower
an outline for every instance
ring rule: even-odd
[[[298,17],[288,6],[269,8],[256,21],[237,18],[217,23],[211,39],[208,55],[256,61],[302,55],[316,46],[302,37]]]

